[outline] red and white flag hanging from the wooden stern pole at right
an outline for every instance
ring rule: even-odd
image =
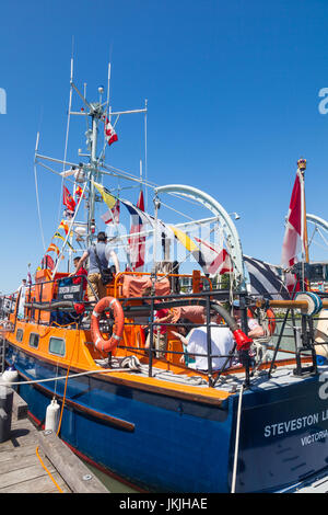
[[[285,232],[282,243],[281,265],[290,268],[297,262],[297,254],[302,250],[303,241],[303,209],[302,209],[302,178],[297,170],[296,179],[292,191],[290,208],[286,217]],[[294,274],[285,274],[285,284],[289,291],[292,291],[296,283]]]

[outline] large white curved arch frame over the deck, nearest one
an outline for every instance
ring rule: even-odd
[[[161,193],[176,193],[200,203],[218,217],[226,238],[226,245],[233,264],[235,289],[246,291],[244,261],[241,239],[237,229],[226,210],[211,195],[192,186],[168,184],[155,188],[155,196]]]

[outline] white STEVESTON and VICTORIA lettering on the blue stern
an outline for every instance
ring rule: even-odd
[[[278,422],[277,424],[266,425],[265,437],[268,438],[270,436],[283,436],[293,431],[311,427],[323,421],[328,421],[328,410],[324,410],[320,413],[312,413],[309,415],[300,416],[298,419],[292,419],[286,422]],[[315,435],[311,435],[311,437],[302,438],[302,445],[326,438],[327,436],[327,430],[319,431]]]

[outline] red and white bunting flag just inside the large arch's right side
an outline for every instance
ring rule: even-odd
[[[233,272],[230,255],[225,249],[219,249],[213,243],[195,238],[198,243],[199,252],[192,255],[202,267],[204,274],[214,277],[216,274],[226,274]]]

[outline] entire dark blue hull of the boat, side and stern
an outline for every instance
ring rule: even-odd
[[[23,378],[65,376],[9,347]],[[44,421],[63,381],[20,386]],[[328,464],[328,402],[320,376],[243,396],[236,492],[273,492],[297,484]],[[238,396],[221,407],[144,391],[101,376],[68,381],[61,437],[99,466],[154,492],[230,492]]]

